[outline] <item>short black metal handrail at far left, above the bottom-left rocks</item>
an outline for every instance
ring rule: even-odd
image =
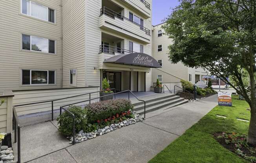
[[[13,106],[13,129],[14,129],[14,143],[17,143],[18,163],[20,163],[20,122],[18,120],[15,106]]]

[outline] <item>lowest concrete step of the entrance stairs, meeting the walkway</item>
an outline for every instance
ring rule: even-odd
[[[175,99],[175,100],[172,100],[172,101],[167,101],[167,102],[164,102],[164,103],[153,105],[151,107],[146,107],[146,113],[147,112],[152,112],[152,111],[157,110],[157,109],[161,109],[161,108],[166,107],[166,106],[174,107],[174,106],[181,105],[181,104],[187,103],[187,102],[188,102],[188,100],[184,100],[184,98],[178,98],[178,99]],[[134,110],[138,114],[144,114],[144,107],[142,109],[134,109]]]

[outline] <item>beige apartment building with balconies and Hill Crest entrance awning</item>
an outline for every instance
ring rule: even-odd
[[[150,91],[151,0],[8,0],[0,90],[100,86]]]

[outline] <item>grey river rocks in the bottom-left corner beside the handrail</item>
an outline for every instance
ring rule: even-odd
[[[13,148],[3,145],[0,151],[0,163],[17,163],[17,160],[14,160]]]

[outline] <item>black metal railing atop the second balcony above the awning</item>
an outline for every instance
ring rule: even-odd
[[[105,7],[105,6],[104,6],[104,7],[101,8],[101,15],[103,15],[103,14],[105,14],[105,15],[107,15],[107,16],[110,16],[110,17],[113,18],[113,19],[114,19],[114,18],[119,18],[119,19],[121,19],[121,20],[126,19],[126,20],[132,22],[133,24],[138,25],[141,30],[145,31],[145,33],[150,36],[150,29],[147,29],[146,27],[144,27],[144,26],[142,26],[142,25],[140,25],[140,24],[137,24],[136,22],[133,22],[132,20],[130,20],[130,19],[124,17],[123,15],[121,15],[121,14],[119,14],[119,13],[116,13],[115,11],[109,9],[108,7]],[[101,15],[100,15],[100,16],[101,16]]]

